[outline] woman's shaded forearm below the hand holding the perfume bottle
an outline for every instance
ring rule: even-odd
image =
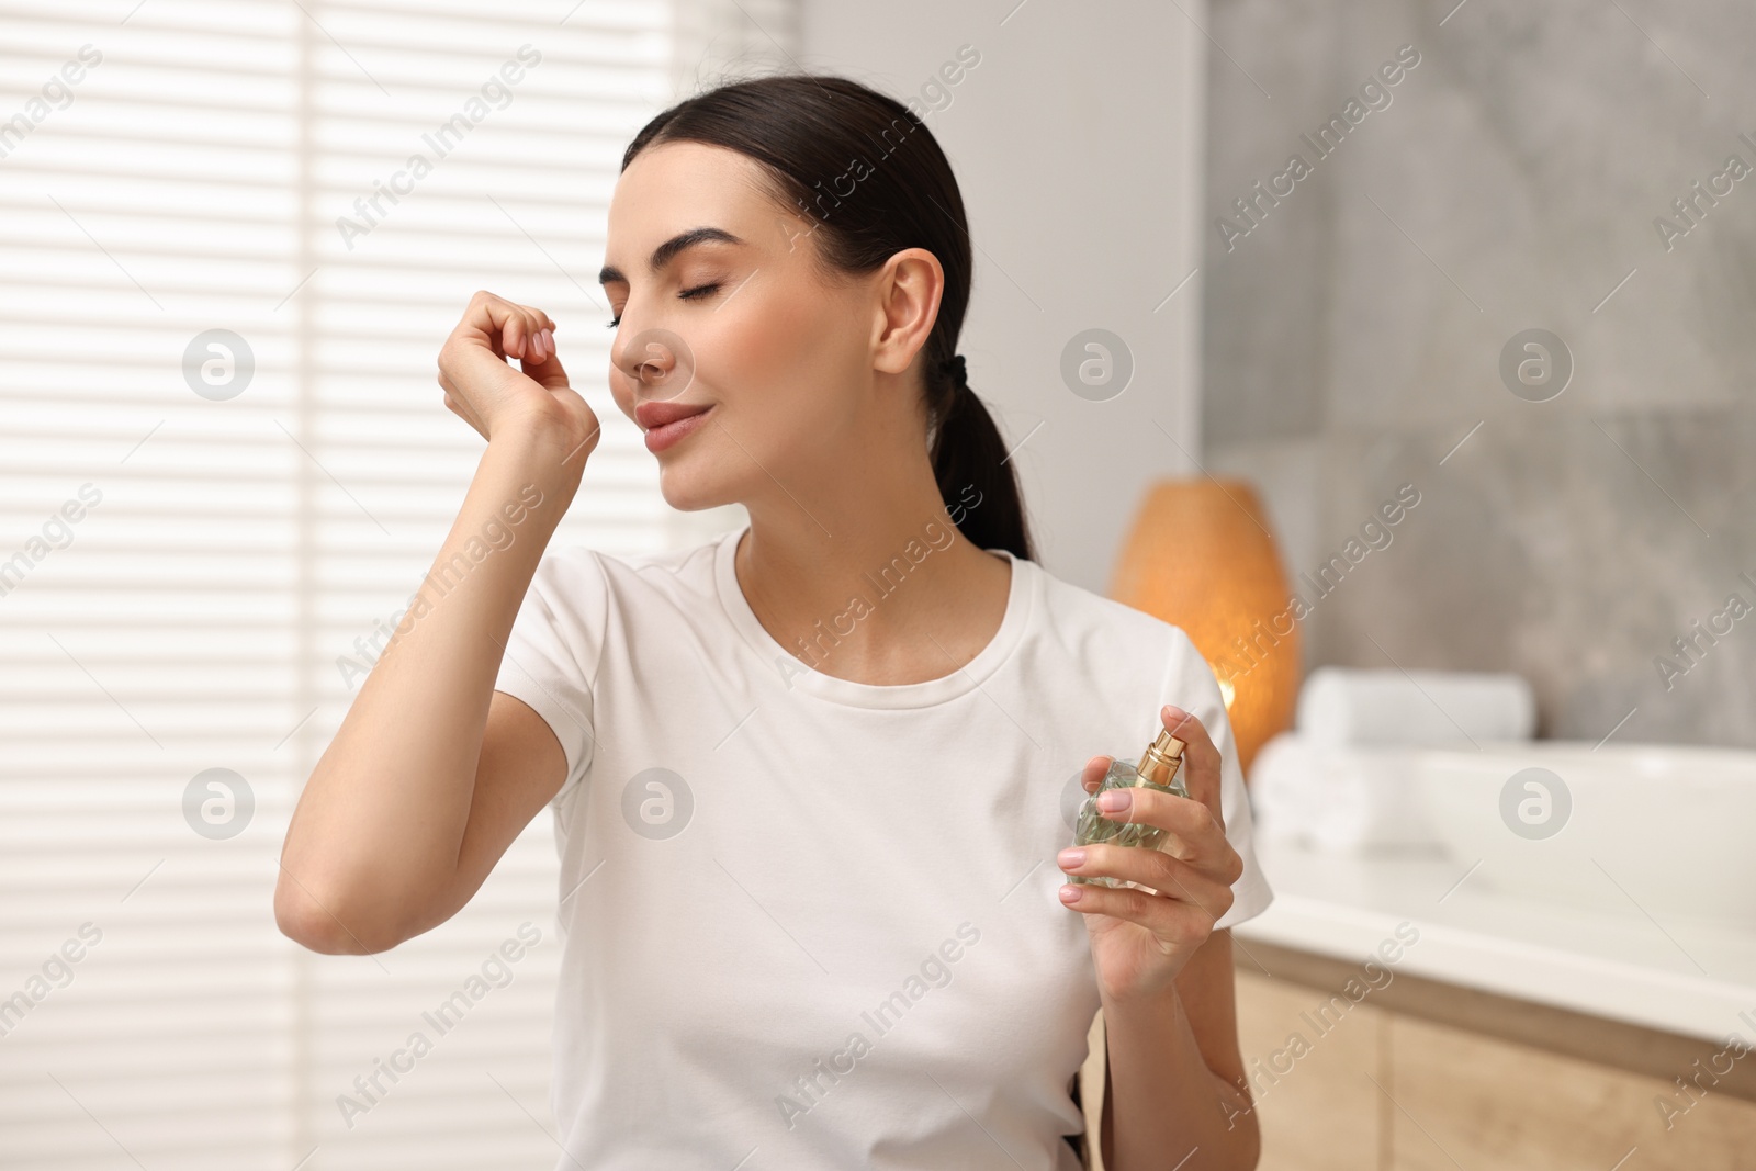
[[[1105,1001],[1103,1017],[1108,1171],[1256,1167],[1261,1138],[1250,1099],[1208,1069],[1175,988],[1148,1002]]]

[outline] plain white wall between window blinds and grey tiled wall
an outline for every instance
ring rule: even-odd
[[[799,65],[906,98],[982,54],[927,114],[976,246],[962,353],[1008,446],[1029,435],[1013,462],[1043,565],[1105,592],[1147,486],[1201,451],[1201,276],[1164,298],[1199,263],[1206,5],[1015,4],[804,0]],[[1087,328],[1134,356],[1106,402],[1061,377]]]

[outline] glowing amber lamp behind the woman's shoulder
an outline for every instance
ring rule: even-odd
[[[1292,723],[1299,629],[1256,490],[1241,479],[1166,479],[1147,493],[1110,597],[1182,627],[1219,679],[1249,776]]]

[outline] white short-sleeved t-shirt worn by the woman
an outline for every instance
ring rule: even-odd
[[[1076,1171],[1099,999],[1055,853],[1085,760],[1138,760],[1164,702],[1192,711],[1245,864],[1219,927],[1273,897],[1212,672],[1180,629],[1006,553],[971,662],[839,679],[757,620],[741,534],[550,550],[495,683],[567,755],[558,1167]],[[932,553],[911,542],[866,602]],[[825,614],[822,646],[864,613]]]

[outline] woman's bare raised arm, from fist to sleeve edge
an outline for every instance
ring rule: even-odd
[[[525,590],[597,446],[553,328],[539,309],[476,293],[441,349],[446,406],[488,448],[293,809],[274,916],[316,952],[383,952],[443,923],[565,779],[543,718],[493,692]]]

